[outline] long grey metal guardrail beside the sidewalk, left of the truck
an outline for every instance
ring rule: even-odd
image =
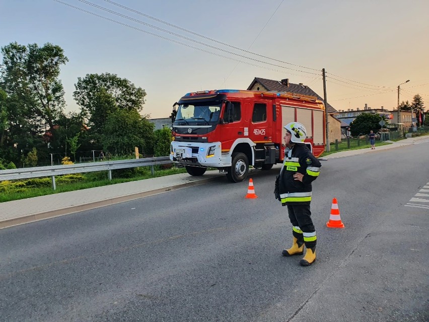
[[[51,177],[52,188],[55,190],[56,175],[107,170],[109,180],[111,180],[112,170],[115,170],[115,169],[152,166],[152,174],[153,174],[154,165],[169,164],[169,163],[171,163],[170,157],[156,157],[156,158],[131,159],[131,160],[101,161],[101,162],[92,162],[92,163],[84,163],[84,164],[65,164],[65,165],[54,165],[54,166],[46,166],[46,167],[9,169],[9,170],[0,170],[0,181]]]

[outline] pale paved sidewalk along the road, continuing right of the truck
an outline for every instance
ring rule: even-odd
[[[394,142],[390,145],[376,147],[376,150],[367,148],[336,152],[324,157],[324,159],[329,160],[364,153],[375,153],[380,150],[415,144],[420,140],[429,142],[429,136]],[[204,184],[224,177],[225,174],[219,173],[218,170],[207,171],[201,177],[181,173],[0,203],[0,229],[153,196],[165,191]]]

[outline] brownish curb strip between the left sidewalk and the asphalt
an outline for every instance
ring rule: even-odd
[[[61,208],[61,209],[54,209],[54,210],[44,211],[44,212],[30,214],[30,215],[26,215],[26,216],[4,219],[4,220],[0,221],[0,229],[13,227],[13,226],[17,226],[17,225],[22,225],[22,224],[27,224],[27,223],[31,223],[31,222],[35,222],[35,221],[39,221],[39,220],[59,217],[59,216],[63,216],[63,215],[69,215],[69,214],[73,214],[73,213],[77,213],[77,212],[81,212],[81,211],[86,211],[86,210],[91,210],[91,209],[95,209],[95,208],[110,206],[110,205],[114,205],[114,204],[119,204],[119,203],[123,203],[123,202],[130,201],[130,200],[135,200],[135,199],[139,199],[139,198],[155,196],[155,195],[163,194],[164,192],[168,192],[168,191],[172,191],[172,190],[178,190],[178,189],[182,189],[182,188],[187,188],[187,187],[191,187],[191,186],[196,186],[196,185],[200,185],[200,184],[205,184],[205,183],[217,181],[221,178],[223,179],[224,177],[225,177],[224,175],[218,175],[215,177],[201,179],[201,180],[197,180],[197,181],[193,181],[193,182],[186,182],[186,183],[181,183],[178,185],[172,185],[172,186],[168,186],[168,187],[158,188],[158,189],[154,189],[154,190],[137,192],[135,194],[118,196],[118,197],[94,201],[94,202],[90,202],[90,203],[86,203],[86,204],[82,204],[82,205],[69,206],[69,207],[65,207],[65,208]]]

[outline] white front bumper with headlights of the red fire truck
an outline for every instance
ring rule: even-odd
[[[184,165],[202,167],[221,167],[222,149],[220,142],[195,143],[173,141],[171,143],[170,160]]]

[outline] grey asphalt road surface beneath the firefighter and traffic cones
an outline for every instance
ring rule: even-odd
[[[427,151],[323,162],[310,267],[281,256],[279,167],[252,175],[254,200],[225,178],[0,230],[0,321],[427,321],[429,203],[410,201]]]

